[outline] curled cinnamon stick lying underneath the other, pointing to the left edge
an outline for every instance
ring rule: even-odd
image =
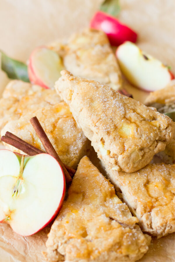
[[[7,139],[7,137],[11,138],[11,139]],[[45,153],[44,151],[30,145],[26,141],[22,140],[21,138],[15,136],[14,134],[12,134],[8,131],[6,132],[5,136],[2,137],[1,140],[5,143],[11,145],[11,146],[18,148],[19,150],[23,151],[27,155],[36,155],[36,154]],[[16,142],[13,141],[13,140],[15,140]],[[23,144],[25,146],[22,146],[21,144]],[[31,150],[29,148],[31,148]],[[67,169],[67,171],[69,172],[70,176],[71,177],[74,176],[74,174],[76,173],[76,170],[67,166],[66,164],[64,164],[64,166]]]

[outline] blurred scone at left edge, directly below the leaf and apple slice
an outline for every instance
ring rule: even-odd
[[[0,99],[0,131],[8,121],[19,119],[28,112],[55,105],[60,101],[61,98],[55,90],[12,80],[6,86]]]

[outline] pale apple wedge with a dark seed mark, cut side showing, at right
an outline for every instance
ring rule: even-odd
[[[145,91],[162,89],[174,79],[167,66],[129,41],[118,47],[116,56],[128,81]]]

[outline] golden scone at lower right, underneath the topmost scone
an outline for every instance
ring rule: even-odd
[[[143,231],[158,238],[175,231],[175,165],[148,164],[134,173],[106,171]]]

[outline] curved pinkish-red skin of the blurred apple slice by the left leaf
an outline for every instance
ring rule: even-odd
[[[41,79],[39,79],[39,77],[37,77],[37,75],[35,74],[34,72],[34,68],[32,66],[32,58],[35,54],[35,52],[38,51],[38,49],[41,49],[41,48],[47,48],[45,46],[40,46],[40,47],[37,47],[36,49],[33,50],[33,52],[31,53],[30,55],[30,58],[29,58],[29,64],[28,64],[28,75],[29,75],[29,80],[32,84],[36,84],[38,86],[42,86],[43,88],[46,88],[46,89],[50,89],[48,86],[46,86],[42,81]]]

